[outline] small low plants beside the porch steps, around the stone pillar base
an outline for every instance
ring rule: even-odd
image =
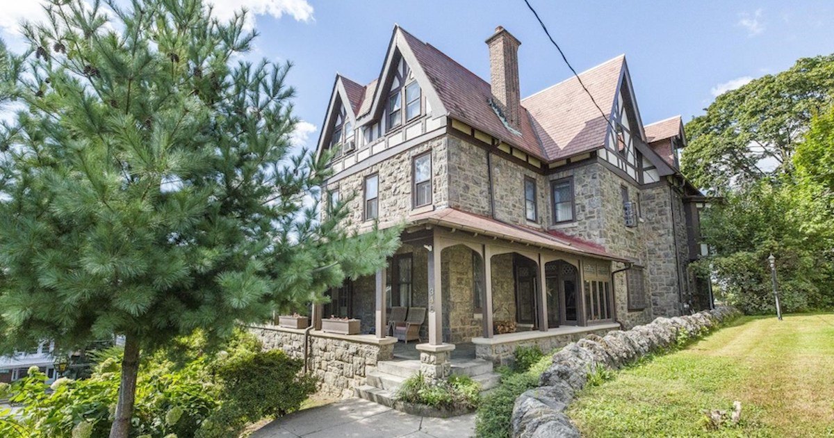
[[[480,403],[480,384],[468,375],[450,375],[447,381],[430,383],[417,373],[399,386],[397,398],[436,408],[474,409]]]

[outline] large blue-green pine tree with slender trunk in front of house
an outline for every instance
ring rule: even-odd
[[[398,230],[351,235],[305,202],[328,157],[293,154],[289,63],[240,60],[244,13],[118,4],[53,0],[30,51],[0,53],[0,98],[22,108],[0,128],[0,353],[123,335],[126,437],[140,350],[322,300]]]

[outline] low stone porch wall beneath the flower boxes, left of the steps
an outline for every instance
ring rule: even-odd
[[[284,350],[288,355],[304,358],[304,330],[274,325],[250,327],[264,344],[264,350]],[[337,397],[354,396],[354,388],[365,383],[365,374],[376,370],[379,360],[394,357],[394,338],[375,340],[372,336],[330,335],[311,331],[309,336],[310,372],[319,378],[319,389]]]

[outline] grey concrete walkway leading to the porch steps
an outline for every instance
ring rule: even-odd
[[[465,438],[472,435],[475,435],[475,414],[450,419],[420,417],[368,400],[348,399],[287,415],[264,425],[251,436]]]

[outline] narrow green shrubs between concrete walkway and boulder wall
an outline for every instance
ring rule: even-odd
[[[529,365],[525,372],[500,370],[502,374],[500,385],[490,390],[478,407],[475,435],[481,438],[509,438],[512,435],[510,420],[515,399],[525,390],[539,385],[541,373],[545,372],[553,362],[552,353],[554,352],[542,355],[539,360]]]

